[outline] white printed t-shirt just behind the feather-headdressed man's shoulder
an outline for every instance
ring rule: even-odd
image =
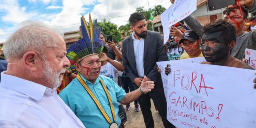
[[[116,61],[116,60],[114,60]],[[116,61],[118,62],[118,61]],[[119,62],[118,62],[119,63]],[[113,65],[111,65],[111,63],[107,62],[105,65],[101,66],[100,69],[100,75],[104,75],[106,77],[109,77],[110,79],[114,80],[114,82],[116,84],[117,83],[117,79],[118,79],[118,75],[122,75],[123,72],[118,71]]]

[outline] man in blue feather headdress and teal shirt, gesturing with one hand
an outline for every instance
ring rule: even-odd
[[[91,18],[89,19],[92,24]],[[101,61],[106,61],[99,57],[103,49],[103,43],[99,39],[100,27],[97,29],[95,20],[94,28],[90,25],[88,29],[84,17],[81,18],[81,26],[83,38],[67,49],[70,68],[76,68],[79,73],[59,96],[85,127],[118,128],[121,120],[117,102],[133,102],[141,94],[150,92],[154,88],[154,82],[146,81],[147,77],[144,76],[141,87],[126,94],[112,79],[99,75]]]

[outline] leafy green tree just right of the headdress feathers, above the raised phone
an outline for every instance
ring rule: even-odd
[[[101,32],[105,35],[112,35],[115,43],[122,41],[121,33],[117,29],[117,25],[111,23],[109,20],[103,19],[102,22],[98,22],[98,26],[101,27]]]

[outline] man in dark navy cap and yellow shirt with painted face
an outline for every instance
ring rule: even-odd
[[[183,48],[186,51],[186,53],[181,55],[180,59],[203,57],[200,49],[201,39],[199,35],[193,30],[184,32],[179,44],[180,43],[183,43]]]

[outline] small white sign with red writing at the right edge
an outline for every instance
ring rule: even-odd
[[[246,63],[251,66],[252,68],[255,68],[256,64],[256,50],[246,48],[245,49],[245,61]]]

